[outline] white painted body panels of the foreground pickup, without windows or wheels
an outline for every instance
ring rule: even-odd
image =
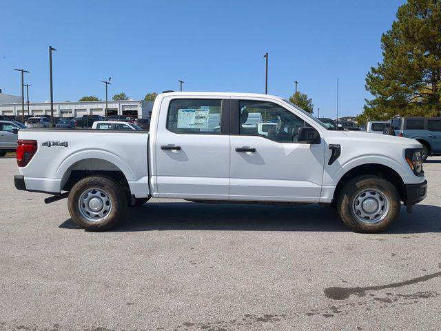
[[[315,128],[320,143],[280,143],[266,137],[238,134],[176,134],[166,128],[168,106],[173,99],[269,101]],[[43,192],[61,192],[76,165],[94,171],[116,167],[123,172],[131,193],[139,198],[329,203],[342,176],[358,165],[369,163],[395,170],[405,184],[424,182],[424,177],[413,174],[404,159],[405,149],[421,148],[418,141],[382,134],[329,131],[296,107],[267,94],[159,94],[152,110],[150,133],[20,130],[19,139],[38,142],[37,153],[19,171],[28,190]],[[67,141],[68,147],[42,146],[45,141]],[[328,165],[331,144],[341,146],[341,155]],[[167,145],[181,146],[181,150],[161,149]],[[252,146],[257,152],[236,152],[235,148],[241,146]],[[94,164],[93,160],[101,161]]]

